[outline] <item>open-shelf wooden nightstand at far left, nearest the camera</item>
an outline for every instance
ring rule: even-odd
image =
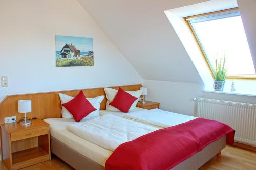
[[[49,124],[32,120],[30,125],[2,124],[2,158],[8,169],[20,169],[51,160]]]

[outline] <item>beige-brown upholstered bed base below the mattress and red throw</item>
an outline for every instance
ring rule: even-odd
[[[175,166],[174,170],[196,170],[226,147],[226,136]],[[78,153],[51,136],[51,152],[77,170],[103,170],[105,167]]]

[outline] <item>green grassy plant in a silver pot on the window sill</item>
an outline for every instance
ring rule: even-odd
[[[227,77],[227,69],[226,69],[226,58],[218,59],[218,55],[215,59],[215,69],[213,70],[214,76],[214,90],[215,91],[223,91],[225,80]]]

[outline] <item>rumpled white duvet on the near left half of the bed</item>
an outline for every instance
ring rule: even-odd
[[[158,130],[156,127],[112,114],[95,117],[86,122],[69,124],[67,129],[77,136],[111,151],[114,151],[122,143]]]

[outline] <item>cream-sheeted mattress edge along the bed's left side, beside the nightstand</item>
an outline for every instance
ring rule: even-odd
[[[75,123],[74,119],[47,118],[44,120],[45,122],[50,124],[50,135],[52,137],[58,139],[73,150],[105,167],[106,159],[109,158],[109,156],[112,154],[112,151],[102,148],[87,140],[84,140],[81,137],[67,130],[66,127],[69,124]]]

